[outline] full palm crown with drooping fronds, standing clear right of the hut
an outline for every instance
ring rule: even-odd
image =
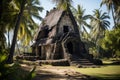
[[[106,12],[102,13],[101,10],[95,9],[94,15],[91,16],[91,38],[96,43],[98,39],[102,38],[105,34],[105,30],[108,29],[110,26],[110,22],[108,19],[110,17],[107,15]]]

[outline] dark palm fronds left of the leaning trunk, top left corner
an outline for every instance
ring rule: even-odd
[[[0,41],[5,48],[6,37],[5,33],[13,29],[13,25],[15,22],[16,15],[18,15],[18,8],[13,3],[13,0],[1,0],[0,2]],[[9,34],[8,34],[9,40]],[[8,41],[8,43],[10,43]],[[2,46],[1,45],[1,46]]]

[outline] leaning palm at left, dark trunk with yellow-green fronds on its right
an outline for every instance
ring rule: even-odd
[[[42,7],[39,6],[40,5],[39,0],[22,0],[22,1],[20,0],[20,2],[17,0],[14,1],[18,7],[19,5],[21,6],[19,7],[20,11],[15,24],[13,41],[10,49],[10,54],[8,57],[8,62],[10,63],[13,61],[13,54],[15,50],[17,34],[19,33],[20,35],[20,36],[18,35],[19,39],[26,41],[26,43],[28,44],[31,39],[32,31],[35,30],[34,27],[36,27],[36,23],[33,20],[33,17],[40,20],[41,17],[39,16],[39,11],[42,11],[43,9]]]

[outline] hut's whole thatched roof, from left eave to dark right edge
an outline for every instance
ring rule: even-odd
[[[49,42],[49,44],[50,44],[50,43],[55,42],[55,41],[54,41],[54,38],[52,38],[53,41],[52,41],[52,40],[51,40],[51,41],[47,41],[47,40],[49,40],[49,39],[44,40],[44,39],[40,38],[40,36],[42,36],[41,33],[42,33],[42,31],[45,30],[45,29],[48,29],[48,30],[53,29],[53,28],[60,22],[62,16],[63,16],[66,12],[67,12],[67,11],[65,11],[65,10],[55,9],[55,8],[52,9],[50,12],[47,12],[46,17],[43,19],[42,23],[41,23],[40,26],[39,26],[39,29],[38,29],[38,31],[37,31],[37,34],[36,34],[35,37],[34,37],[34,41],[35,41],[34,44],[35,44],[35,45],[36,45],[36,44],[37,44],[37,45],[48,44],[48,42]],[[70,10],[69,10],[69,14],[68,14],[68,15],[70,16],[73,25],[76,26],[76,27],[75,27],[75,32],[79,32],[79,31],[77,31],[78,29],[77,29],[76,21],[75,21],[75,19],[74,19],[74,17],[73,17],[73,15],[72,15],[72,13],[71,13]],[[48,36],[47,38],[50,38],[50,37]],[[33,44],[33,45],[34,45],[34,44]]]

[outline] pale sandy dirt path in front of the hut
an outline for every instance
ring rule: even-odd
[[[26,69],[31,66],[22,65]],[[36,77],[33,80],[93,80],[90,76],[83,75],[71,67],[37,66]]]

